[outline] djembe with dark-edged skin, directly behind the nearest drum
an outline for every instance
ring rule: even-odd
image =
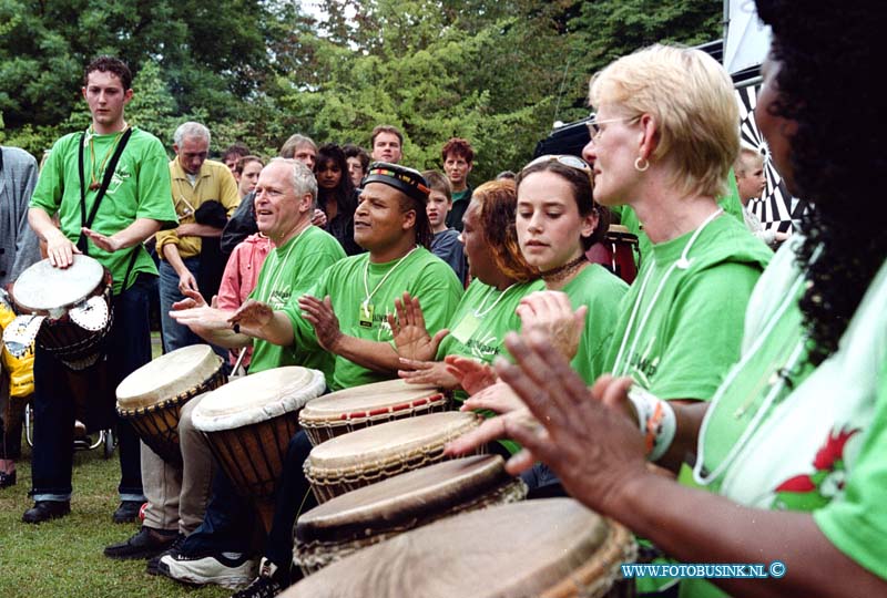
[[[499,455],[421,467],[343,494],[302,515],[293,564],[305,575],[351,553],[458,513],[522,501],[527,485]]]

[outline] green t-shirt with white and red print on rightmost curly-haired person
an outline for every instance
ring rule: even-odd
[[[805,280],[793,249],[801,240],[779,249],[755,289],[742,360],[700,431],[704,480],[696,481],[750,507],[813,513],[838,550],[887,579],[887,265],[838,350],[814,369],[797,307]],[[684,580],[681,596],[724,594]]]

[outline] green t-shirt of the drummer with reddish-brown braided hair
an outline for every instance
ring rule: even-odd
[[[478,279],[472,280],[456,307],[449,322],[450,333],[440,342],[436,359],[463,355],[492,363],[496,355],[504,351],[506,333],[520,330],[520,318],[516,313],[520,300],[544,288],[541,280],[533,280],[500,291]]]

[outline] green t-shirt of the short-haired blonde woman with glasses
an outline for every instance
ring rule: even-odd
[[[651,246],[621,306],[605,371],[631,375],[661,399],[708,400],[740,354],[748,297],[773,254],[743,224],[720,216]],[[680,266],[686,266],[681,268]]]

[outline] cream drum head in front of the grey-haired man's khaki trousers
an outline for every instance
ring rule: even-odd
[[[176,349],[124,378],[118,385],[118,405],[135,410],[174,399],[200,386],[221,368],[222,358],[208,344]]]

